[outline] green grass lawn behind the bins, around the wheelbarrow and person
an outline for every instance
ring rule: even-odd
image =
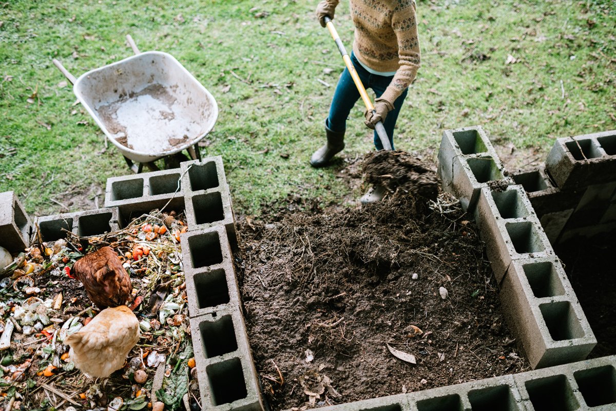
[[[202,153],[222,155],[237,213],[257,214],[289,193],[338,201],[351,190],[336,178],[344,162],[308,165],[342,70],[315,21],[316,3],[2,4],[0,192],[17,192],[28,213],[58,213],[66,210],[54,200],[91,200],[107,177],[128,174],[120,152],[105,150],[102,131],[73,106],[70,85],[59,86],[64,78],[51,60],[78,76],[131,55],[124,40],[131,34],[142,51],[176,57],[216,98],[220,115]],[[497,145],[546,154],[556,137],[616,128],[612,2],[495,4],[418,2],[423,64],[399,118],[397,148],[436,149],[444,129],[481,124]],[[350,50],[346,1],[334,23]],[[464,60],[479,53],[490,58]],[[517,61],[506,64],[508,55]],[[347,123],[347,158],[372,147],[362,111],[358,104]]]

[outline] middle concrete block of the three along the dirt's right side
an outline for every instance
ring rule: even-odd
[[[474,215],[497,283],[513,260],[555,255],[521,185],[484,187]]]

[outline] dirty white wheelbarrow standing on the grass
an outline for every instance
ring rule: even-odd
[[[153,161],[182,150],[200,159],[198,142],[216,123],[216,100],[172,55],[142,53],[126,39],[135,55],[79,78],[53,61],[132,171],[140,173],[144,164],[158,169]]]

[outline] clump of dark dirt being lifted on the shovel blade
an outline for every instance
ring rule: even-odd
[[[439,193],[439,182],[431,166],[402,150],[367,153],[362,172],[365,182],[383,185],[390,192],[400,189],[430,200],[436,200]]]

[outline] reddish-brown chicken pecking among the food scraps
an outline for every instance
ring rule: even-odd
[[[100,309],[124,305],[131,296],[131,279],[111,247],[99,248],[78,259],[70,273],[83,283],[87,295]]]

